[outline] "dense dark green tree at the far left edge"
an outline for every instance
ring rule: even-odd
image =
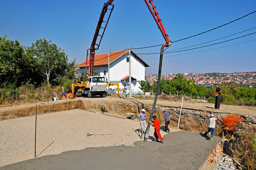
[[[0,37],[0,87],[4,83],[19,87],[22,82],[38,82],[40,75],[36,69],[36,59],[27,55],[20,42]]]

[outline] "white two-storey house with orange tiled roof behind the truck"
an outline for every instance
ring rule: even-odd
[[[87,60],[87,67],[89,60]],[[132,94],[143,93],[139,89],[140,81],[145,81],[145,67],[149,65],[131,50],[131,74],[132,74]],[[85,72],[86,61],[79,64],[80,72]],[[87,68],[88,70],[88,68]],[[95,55],[94,72],[99,72],[99,76],[106,77],[110,83],[119,83],[121,93],[129,92],[129,50],[109,52],[109,72],[108,72],[108,53]],[[113,88],[113,87],[111,87]]]

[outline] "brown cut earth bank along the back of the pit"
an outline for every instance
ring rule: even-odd
[[[109,100],[110,99],[110,100]],[[137,107],[135,100],[116,100],[114,98],[109,98],[108,100],[100,101],[98,100],[85,100],[84,98],[76,99],[76,100],[67,100],[60,101],[55,103],[47,103],[43,105],[29,105],[28,107],[17,107],[17,109],[7,109],[4,111],[0,111],[0,120],[9,119],[9,118],[18,118],[22,116],[30,116],[35,115],[36,106],[37,106],[37,114],[43,113],[52,113],[57,111],[65,111],[71,109],[85,109],[88,111],[101,112],[101,105],[104,105],[105,110],[104,113],[108,115],[118,116],[125,118],[124,113],[135,113],[137,118]],[[147,118],[149,118],[152,105],[145,105],[141,102],[138,103],[139,111],[141,109],[146,110]],[[171,113],[171,122],[169,124],[170,127],[177,128],[178,125],[178,117],[180,113],[180,107],[171,107],[171,106],[161,106],[157,105],[154,115],[160,119],[160,124],[164,122],[162,111],[165,110]],[[213,111],[203,111],[200,109],[188,109],[182,108],[180,125],[179,128],[187,131],[200,132],[208,130],[208,122],[210,119],[210,114],[214,114],[219,120],[230,115],[230,113],[216,113]],[[164,125],[163,125],[164,126]],[[215,136],[221,136],[221,132],[223,127],[216,127]]]

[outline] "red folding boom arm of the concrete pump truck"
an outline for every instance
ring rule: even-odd
[[[90,55],[89,55],[89,76],[93,76],[93,66],[94,66],[94,55],[95,55],[95,50],[98,50],[99,46],[100,46],[100,42],[102,40],[102,37],[104,35],[104,32],[106,30],[106,27],[108,25],[108,21],[109,21],[109,18],[110,18],[110,15],[114,9],[114,5],[112,4],[114,0],[109,0],[108,2],[104,3],[104,6],[102,8],[102,11],[100,13],[100,18],[98,20],[98,24],[97,24],[97,27],[96,27],[96,30],[95,30],[95,34],[93,36],[93,41],[91,43],[91,48],[87,49],[87,55],[86,55],[86,70],[87,70],[87,58],[88,58],[88,51],[90,50]],[[152,17],[154,18],[154,20],[156,21],[156,24],[158,25],[158,28],[160,29],[162,35],[163,35],[163,38],[165,39],[165,44],[163,44],[162,48],[163,49],[164,47],[167,47],[167,46],[170,46],[171,45],[171,41],[169,40],[169,37],[165,31],[165,28],[163,26],[163,23],[158,15],[158,12],[156,11],[156,7],[154,6],[153,4],[153,0],[149,0],[149,2],[147,0],[144,0],[150,13],[152,14]],[[152,8],[150,6],[150,4],[152,5]],[[108,6],[112,6],[112,8],[108,8]],[[108,16],[108,20],[107,21],[103,21],[104,20],[104,17],[105,17],[105,14],[107,13],[107,10],[111,10],[110,13],[109,13],[109,16]],[[154,11],[153,11],[154,10]],[[106,23],[106,25],[104,27],[102,27],[102,23]],[[102,32],[102,35],[99,35],[99,32],[100,32],[100,29],[104,29],[103,32]],[[98,44],[96,44],[96,41],[98,39],[98,36],[100,36],[100,41]],[[95,46],[97,46],[97,48],[95,48]],[[86,70],[85,70],[85,77],[86,77]]]

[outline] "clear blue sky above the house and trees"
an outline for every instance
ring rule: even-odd
[[[91,45],[95,32],[93,28],[97,24],[95,20],[98,20],[104,2],[107,0],[0,0],[0,37],[7,35],[7,39],[18,40],[24,46],[31,46],[37,39],[51,39],[65,50],[70,61],[76,59],[76,63],[80,64],[86,59],[86,50]],[[113,4],[114,10],[96,54],[165,43],[144,0],[114,0]],[[171,41],[210,30],[256,11],[255,0],[154,0],[154,5]],[[256,13],[208,33],[175,42],[167,50],[177,51],[175,49],[254,27]],[[256,28],[191,48],[254,32]],[[195,50],[169,54],[165,50],[162,73],[256,71],[256,41],[252,40],[256,40],[256,33]],[[145,70],[146,74],[157,74],[159,54],[142,53],[160,52],[160,48],[133,50],[150,65]],[[185,49],[189,48],[182,50]],[[198,52],[202,50],[207,51]]]

